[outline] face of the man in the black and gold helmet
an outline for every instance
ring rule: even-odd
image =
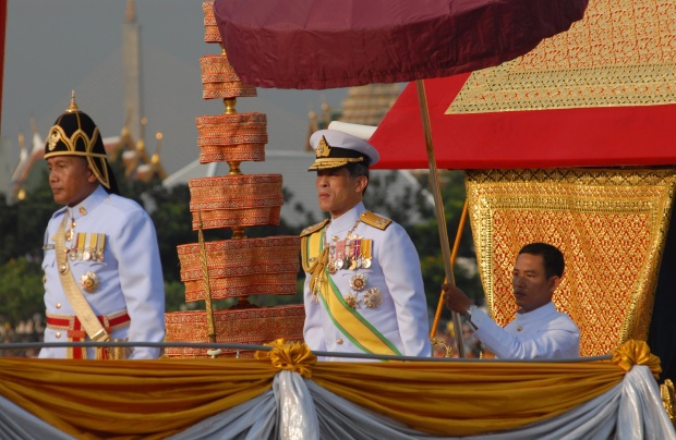
[[[87,160],[79,156],[55,156],[47,159],[49,186],[59,205],[75,206],[98,185],[96,176],[87,167]]]

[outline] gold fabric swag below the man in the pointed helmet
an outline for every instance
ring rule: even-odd
[[[220,358],[0,358],[0,394],[77,439],[162,439],[264,393],[277,371]]]

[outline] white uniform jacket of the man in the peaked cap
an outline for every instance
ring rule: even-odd
[[[331,237],[345,240],[347,233],[360,220],[366,208],[359,203],[354,208],[333,220],[326,227],[326,241]],[[405,356],[430,356],[430,329],[427,305],[420,268],[418,252],[407,232],[393,222],[385,230],[359,222],[353,233],[373,242],[372,265],[370,268],[355,270],[341,269],[331,274],[340,293],[355,293],[363,300],[363,294],[376,288],[383,294],[379,306],[370,308],[360,301],[357,313],[361,314],[371,326],[387,338]],[[366,277],[362,291],[355,292],[350,280],[357,273]],[[310,278],[306,273],[304,288],[305,304],[305,343],[313,351],[343,353],[363,353],[352,344],[334,325],[327,315],[323,302],[316,302],[310,292]],[[360,360],[327,356],[323,360]]]

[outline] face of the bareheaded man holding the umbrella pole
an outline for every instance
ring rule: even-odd
[[[523,311],[532,311],[552,301],[560,278],[544,273],[542,255],[520,254],[514,267],[514,297]]]

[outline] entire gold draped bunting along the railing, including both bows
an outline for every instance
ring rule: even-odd
[[[0,394],[76,438],[160,439],[262,394],[288,369],[420,431],[471,436],[556,416],[625,375],[612,362],[316,363],[304,344],[270,345],[258,359],[0,358]],[[642,344],[626,350],[652,363]]]

